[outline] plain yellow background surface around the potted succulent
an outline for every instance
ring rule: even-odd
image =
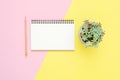
[[[36,80],[120,80],[120,0],[73,0],[65,19],[75,20],[75,51],[48,51]],[[101,22],[98,48],[85,48],[78,31],[84,20]]]

